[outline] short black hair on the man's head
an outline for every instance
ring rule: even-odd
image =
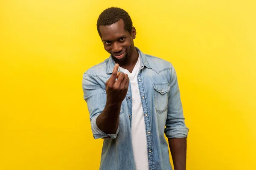
[[[131,17],[122,8],[117,8],[117,7],[111,7],[105,9],[100,15],[97,20],[97,30],[99,33],[99,36],[102,38],[102,35],[99,31],[99,26],[110,26],[113,23],[116,23],[120,19],[123,20],[124,26],[125,26],[125,31],[128,31],[131,33],[132,30],[132,21]]]

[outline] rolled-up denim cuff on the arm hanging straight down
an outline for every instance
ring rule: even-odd
[[[186,126],[166,127],[166,137],[171,138],[186,138],[188,136],[189,128]]]

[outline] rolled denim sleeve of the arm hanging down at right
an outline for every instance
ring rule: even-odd
[[[180,89],[175,69],[172,67],[170,91],[168,99],[168,113],[165,134],[167,138],[186,138],[189,128],[185,125],[183,108],[180,100]]]

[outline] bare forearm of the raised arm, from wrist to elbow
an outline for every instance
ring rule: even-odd
[[[107,134],[116,132],[119,126],[121,105],[106,104],[104,111],[97,117],[96,124],[100,130]]]

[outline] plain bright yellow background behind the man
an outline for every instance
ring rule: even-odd
[[[81,80],[108,57],[96,20],[111,6],[177,70],[187,170],[256,170],[255,0],[1,0],[0,170],[99,169]]]

